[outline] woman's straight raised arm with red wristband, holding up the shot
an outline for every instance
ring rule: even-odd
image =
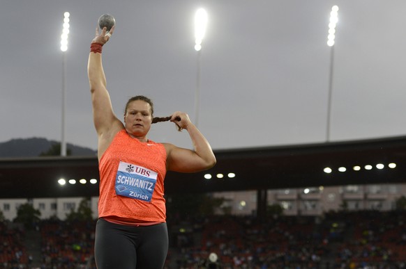
[[[112,102],[106,88],[106,78],[101,54],[101,48],[110,39],[113,31],[114,26],[109,34],[106,34],[106,28],[103,28],[101,33],[96,29],[96,37],[93,38],[91,42],[92,49],[89,53],[89,61],[87,64],[93,108],[93,123],[99,138],[99,155],[103,154],[116,131],[123,128],[122,123],[114,115],[112,109]]]

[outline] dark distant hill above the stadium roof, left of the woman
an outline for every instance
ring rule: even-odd
[[[42,152],[47,152],[52,145],[59,143],[59,141],[45,138],[17,138],[0,142],[0,158],[39,156]],[[66,148],[70,149],[71,156],[96,156],[97,154],[96,150],[69,143],[66,143]]]

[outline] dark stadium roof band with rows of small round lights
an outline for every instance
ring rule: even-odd
[[[167,172],[165,192],[405,183],[406,136],[302,145],[214,150],[217,164],[206,171]],[[375,169],[382,163],[384,169]],[[389,168],[396,163],[396,169]],[[353,170],[354,165],[361,170]],[[364,169],[365,165],[373,169]],[[381,165],[382,166],[382,165]],[[333,172],[327,174],[324,168]],[[346,172],[338,168],[346,167]],[[235,177],[228,178],[232,173]],[[211,174],[208,180],[205,174]],[[219,175],[223,176],[220,177]],[[98,184],[59,186],[58,179],[98,179],[96,156],[0,159],[0,197],[97,196]]]

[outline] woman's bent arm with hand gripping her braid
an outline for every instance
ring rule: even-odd
[[[180,120],[179,120],[180,118]],[[193,150],[165,144],[167,149],[167,170],[176,172],[199,172],[216,165],[216,156],[203,134],[190,122],[186,113],[175,112],[171,118],[181,129],[188,131]]]

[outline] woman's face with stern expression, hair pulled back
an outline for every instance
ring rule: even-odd
[[[151,105],[146,101],[130,102],[124,115],[124,123],[128,133],[135,137],[146,136],[151,128]]]

